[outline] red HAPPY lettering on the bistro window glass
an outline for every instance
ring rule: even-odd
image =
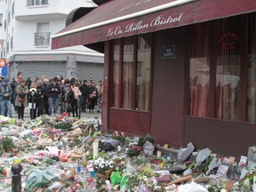
[[[236,42],[239,40],[239,36],[234,32],[227,32],[220,36],[218,42],[221,46],[221,51],[235,50]]]

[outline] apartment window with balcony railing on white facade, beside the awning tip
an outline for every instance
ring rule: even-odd
[[[37,29],[35,33],[35,45],[49,45],[50,44],[50,32],[49,23],[37,23]]]

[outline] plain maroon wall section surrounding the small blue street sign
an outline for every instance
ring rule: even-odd
[[[186,28],[155,33],[151,133],[157,143],[182,144],[185,90]],[[175,57],[163,58],[164,46],[175,45]]]

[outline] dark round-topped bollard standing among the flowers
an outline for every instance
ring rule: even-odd
[[[12,192],[21,192],[21,164],[12,164]]]

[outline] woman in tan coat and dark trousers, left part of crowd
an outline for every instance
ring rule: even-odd
[[[17,85],[16,88],[16,99],[15,99],[15,106],[18,110],[18,118],[19,120],[24,121],[24,110],[25,107],[28,107],[28,86],[26,85],[24,79],[20,79],[20,84]]]

